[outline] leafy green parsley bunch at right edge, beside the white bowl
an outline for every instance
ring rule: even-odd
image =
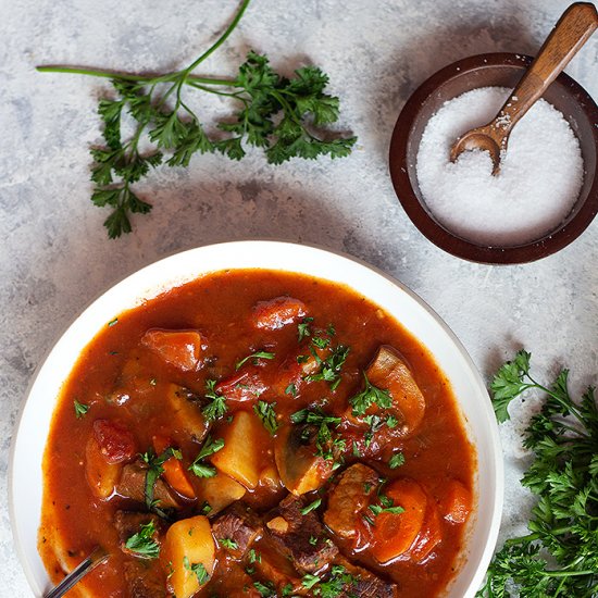
[[[531,354],[519,351],[490,385],[499,421],[523,391],[545,395],[524,433],[534,453],[522,484],[538,501],[530,534],[508,539],[488,569],[479,597],[596,596],[598,594],[598,408],[594,388],[576,402],[562,370],[544,386],[530,375]]]

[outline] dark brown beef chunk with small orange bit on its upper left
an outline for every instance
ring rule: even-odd
[[[301,513],[306,504],[301,498],[289,495],[278,506],[277,513],[266,520],[273,543],[301,574],[320,571],[338,555],[316,513]]]

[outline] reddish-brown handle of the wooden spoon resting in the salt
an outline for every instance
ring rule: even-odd
[[[571,4],[563,13],[536,59],[499,112],[504,133],[546,91],[598,27],[596,7],[588,2]]]

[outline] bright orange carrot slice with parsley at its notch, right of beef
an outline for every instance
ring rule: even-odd
[[[409,550],[422,530],[427,506],[427,496],[414,479],[396,479],[384,494],[404,511],[383,511],[375,519],[372,555],[381,563],[387,563]]]

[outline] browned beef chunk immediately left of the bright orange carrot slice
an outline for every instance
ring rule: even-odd
[[[376,493],[378,484],[378,474],[362,463],[345,470],[328,495],[324,523],[341,538],[354,538],[356,520],[370,503],[370,497]]]

